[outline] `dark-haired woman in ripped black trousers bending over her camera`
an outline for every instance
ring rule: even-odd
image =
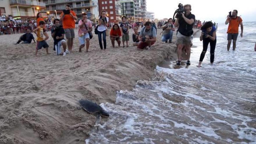
[[[203,51],[200,56],[198,67],[201,67],[202,61],[205,57],[208,45],[210,43],[210,62],[211,65],[214,62],[214,51],[216,47],[216,27],[212,22],[206,22],[202,27],[202,34],[200,36],[200,41],[203,41]]]

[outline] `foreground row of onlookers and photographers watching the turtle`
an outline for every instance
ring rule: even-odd
[[[172,43],[173,32],[175,28],[177,29],[177,65],[181,64],[182,60],[182,52],[185,52],[187,56],[186,64],[190,65],[190,53],[191,53],[191,36],[193,35],[193,28],[195,27],[195,15],[191,13],[191,5],[187,4],[184,6],[186,10],[185,13],[180,14],[177,17],[173,24],[173,19],[168,19],[168,22],[162,24],[161,29],[163,31],[161,33],[161,41]],[[56,50],[57,55],[69,54],[72,52],[73,40],[75,38],[74,28],[75,28],[75,20],[77,20],[76,14],[70,10],[70,5],[66,5],[66,10],[69,10],[68,14],[61,14],[60,19],[54,19],[53,27],[51,28],[51,37],[54,39],[54,49]],[[100,49],[106,49],[106,36],[109,36],[112,47],[115,47],[115,41],[118,44],[118,47],[121,45],[121,37],[122,37],[122,47],[129,47],[129,29],[133,29],[134,33],[132,34],[133,45],[137,46],[138,49],[150,49],[152,45],[157,41],[157,27],[154,23],[145,22],[144,26],[139,31],[140,23],[135,23],[131,26],[127,22],[127,18],[125,16],[122,17],[122,22],[120,25],[113,24],[111,30],[108,29],[109,18],[106,17],[106,11],[101,12],[101,16],[99,17],[98,24],[95,27],[95,34],[98,35],[99,47]],[[63,26],[60,26],[62,23]],[[214,62],[214,51],[216,47],[216,31],[218,24],[209,22],[201,22],[197,20],[197,28],[202,30],[200,40],[203,41],[203,50],[199,58],[198,67],[201,67],[202,61],[204,59],[205,53],[207,51],[208,45],[210,44],[210,63]],[[33,30],[33,32],[37,35],[37,45],[36,52],[39,49],[44,47],[48,54],[48,47],[46,40],[49,38],[47,35],[47,26],[46,22],[42,19],[40,13],[37,16],[37,28]],[[238,28],[241,26],[241,37],[243,36],[243,23],[242,18],[237,16],[237,10],[234,10],[232,16],[228,16],[225,24],[229,24],[228,26],[228,35],[227,35],[227,51],[230,49],[231,42],[233,42],[233,50],[236,48],[236,40],[238,37]],[[86,46],[86,52],[90,47],[90,39],[93,38],[92,34],[92,22],[87,19],[87,14],[82,13],[82,19],[78,22],[79,30],[79,52],[82,51],[82,48]],[[158,26],[159,27],[159,26]],[[45,35],[45,38],[44,36]],[[67,42],[65,38],[67,39]],[[27,33],[22,35],[17,43],[23,41],[23,43],[30,43],[33,40],[33,35],[31,35],[30,30],[27,30]],[[103,45],[102,45],[103,39]],[[35,40],[34,40],[35,42]],[[63,51],[61,50],[63,47]]]

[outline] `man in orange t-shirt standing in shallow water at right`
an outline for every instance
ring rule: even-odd
[[[230,49],[231,41],[233,40],[233,51],[236,49],[236,42],[238,36],[238,28],[241,25],[241,37],[243,37],[243,20],[241,17],[237,17],[237,10],[233,10],[232,16],[227,15],[225,24],[228,24],[227,28],[227,51]]]

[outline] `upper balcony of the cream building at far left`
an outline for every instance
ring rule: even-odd
[[[45,3],[37,2],[37,1],[30,1],[30,0],[9,0],[10,6],[23,6],[23,7],[31,7],[31,6],[40,6],[45,7]]]

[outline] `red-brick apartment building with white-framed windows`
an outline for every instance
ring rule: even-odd
[[[119,0],[98,0],[98,4],[99,15],[101,15],[102,10],[105,10],[110,23],[121,21],[121,3]]]

